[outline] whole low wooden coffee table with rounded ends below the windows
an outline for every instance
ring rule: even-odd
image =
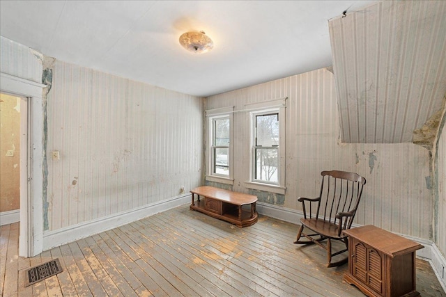
[[[192,204],[190,209],[203,214],[226,220],[237,227],[247,227],[257,222],[257,197],[244,193],[227,191],[213,186],[199,186],[192,191]],[[197,195],[197,201],[195,201]],[[200,200],[200,196],[204,200]],[[243,209],[243,205],[250,204],[250,209]]]

